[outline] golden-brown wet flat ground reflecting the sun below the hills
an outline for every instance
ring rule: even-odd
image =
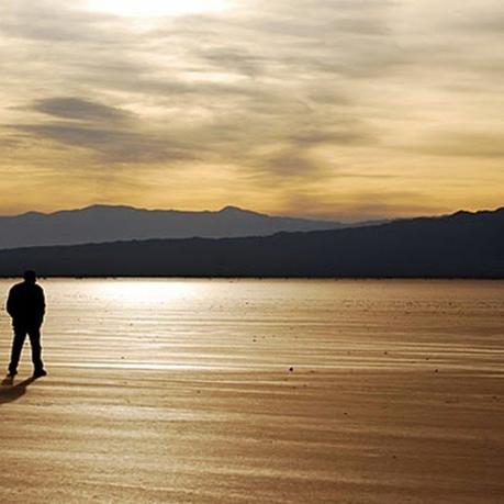
[[[504,500],[504,282],[43,284],[2,503]]]

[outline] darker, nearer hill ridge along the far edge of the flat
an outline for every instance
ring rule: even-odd
[[[268,237],[0,250],[0,275],[504,278],[504,209]]]

